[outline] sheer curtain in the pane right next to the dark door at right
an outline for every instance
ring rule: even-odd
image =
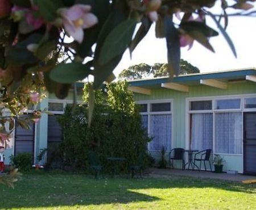
[[[242,113],[216,114],[216,152],[242,154]]]

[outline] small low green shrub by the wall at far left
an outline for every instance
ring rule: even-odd
[[[33,156],[30,153],[19,153],[10,156],[11,165],[21,171],[30,170],[33,163]]]

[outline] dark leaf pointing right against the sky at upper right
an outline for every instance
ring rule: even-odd
[[[180,23],[180,28],[185,32],[200,31],[204,36],[218,36],[218,32],[205,25],[203,22],[188,21]]]

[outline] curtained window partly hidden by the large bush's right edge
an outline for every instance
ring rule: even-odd
[[[146,103],[141,105],[142,125],[152,137],[149,150],[160,151],[163,146],[171,150],[171,102]],[[150,107],[148,111],[148,107]],[[159,113],[156,113],[159,112]]]

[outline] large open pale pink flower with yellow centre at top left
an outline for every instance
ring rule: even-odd
[[[65,31],[72,36],[80,44],[84,39],[85,28],[90,28],[98,23],[97,17],[90,13],[91,6],[89,5],[74,5],[67,8],[59,9],[59,14],[63,19]]]

